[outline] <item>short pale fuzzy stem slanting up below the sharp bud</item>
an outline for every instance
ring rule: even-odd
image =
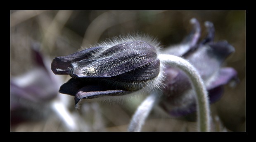
[[[140,104],[137,108],[135,114],[133,115],[132,120],[130,121],[128,131],[129,132],[139,132],[141,131],[142,126],[145,123],[146,118],[151,112],[154,104],[159,100],[157,94],[152,93],[147,96],[147,98]]]

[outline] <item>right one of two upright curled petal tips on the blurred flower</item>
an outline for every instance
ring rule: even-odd
[[[215,29],[213,23],[206,21],[204,23],[205,27],[207,28],[207,36],[201,41],[200,44],[206,44],[208,42],[213,42],[214,41],[214,36],[215,36]]]

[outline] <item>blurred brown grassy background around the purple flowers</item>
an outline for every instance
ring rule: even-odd
[[[225,65],[235,68],[240,80],[234,88],[225,86],[223,97],[211,105],[212,115],[222,127],[220,131],[246,131],[245,17],[246,11],[10,11],[10,76],[20,76],[34,68],[31,43],[40,43],[40,52],[49,60],[133,32],[156,37],[166,47],[178,44],[190,32],[191,18],[199,20],[202,37],[206,34],[204,21],[211,21],[216,29],[215,41],[225,39],[235,47]],[[64,83],[69,76],[62,78]],[[143,100],[142,97],[120,104],[86,103],[77,111],[73,97],[68,98],[69,111],[83,121],[84,127],[78,131],[126,131]],[[152,111],[142,131],[196,131],[195,122],[173,119],[159,111]],[[49,113],[43,119],[11,124],[10,131],[69,130],[54,113]]]

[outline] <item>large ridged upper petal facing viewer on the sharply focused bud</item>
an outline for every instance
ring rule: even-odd
[[[143,41],[118,44],[107,49],[93,60],[85,59],[73,63],[72,75],[79,78],[111,77],[126,73],[155,62],[157,59],[156,51],[147,50],[152,48],[151,45]],[[118,52],[115,53],[116,51]],[[159,68],[159,66],[155,67]]]

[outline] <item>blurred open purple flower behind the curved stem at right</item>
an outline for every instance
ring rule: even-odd
[[[194,24],[198,22],[195,19],[192,21],[194,29],[199,29],[199,24]],[[199,43],[194,43],[199,37],[193,30],[189,36],[190,40],[186,42],[188,43],[186,46],[190,48],[181,48],[186,50],[183,50],[179,56],[184,57],[197,69],[208,90],[210,102],[213,103],[222,96],[223,85],[231,80],[238,81],[238,78],[235,69],[222,67],[225,59],[235,49],[227,41],[213,42],[215,32],[213,24],[206,22],[205,25],[208,30],[206,38]],[[180,46],[185,45],[182,43]],[[177,47],[170,47],[166,49],[165,53],[175,54],[173,51]],[[163,91],[164,98],[159,105],[172,116],[182,116],[194,112],[196,110],[196,95],[192,90],[189,78],[183,71],[170,66],[167,66],[164,72],[166,74],[164,80],[166,87]]]

